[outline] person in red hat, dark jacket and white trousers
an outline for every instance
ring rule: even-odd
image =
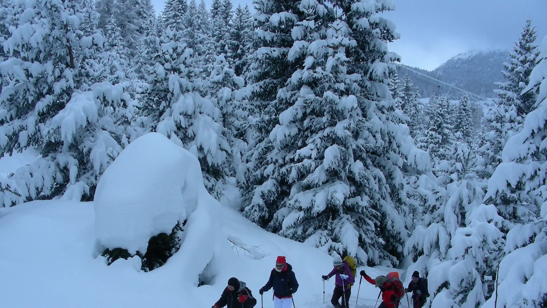
[[[287,263],[285,257],[277,257],[275,268],[270,273],[270,279],[260,288],[260,295],[274,288],[274,308],[290,308],[293,305],[293,293],[298,290],[298,281],[293,267]]]

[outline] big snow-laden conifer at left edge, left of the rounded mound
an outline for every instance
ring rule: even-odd
[[[4,191],[0,199],[8,206],[58,195],[92,199],[121,151],[124,127],[115,120],[124,117],[127,97],[119,86],[93,84],[88,63],[103,37],[82,36],[77,2],[26,1],[16,9],[25,14],[5,42],[9,59],[0,63],[0,149],[34,147],[41,157],[11,176],[19,195]]]

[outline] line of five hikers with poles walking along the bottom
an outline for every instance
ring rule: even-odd
[[[352,257],[348,256],[342,260],[339,255],[335,255],[333,266],[334,268],[329,274],[322,276],[323,301],[324,282],[335,276],[334,292],[330,303],[335,308],[349,308],[351,287],[357,276],[357,265]],[[412,292],[412,306],[422,308],[427,297],[429,297],[427,280],[426,278],[420,278],[418,271],[412,274],[412,280],[407,288],[404,288],[403,283],[399,280],[398,272],[390,272],[386,276],[378,276],[374,279],[366,275],[365,271],[360,271],[359,274],[361,280],[364,277],[366,281],[380,288],[378,299],[382,295],[382,302],[377,308],[398,308],[404,295],[408,292]],[[360,284],[359,281],[359,287]],[[277,257],[275,268],[272,269],[269,280],[259,290],[260,295],[263,295],[271,288],[274,289],[274,308],[294,307],[293,294],[298,290],[298,281],[296,281],[293,267],[287,263],[286,258],[283,256]],[[359,291],[357,291],[358,296]],[[224,306],[228,306],[228,308],[252,308],[256,304],[257,299],[253,297],[245,282],[232,277],[228,280],[228,286],[224,289],[220,299],[211,308],[222,308]],[[376,304],[374,306],[376,308]]]

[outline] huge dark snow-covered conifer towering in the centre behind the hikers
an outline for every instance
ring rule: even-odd
[[[255,106],[275,98],[247,135],[251,150],[240,171],[250,189],[243,193],[243,214],[361,263],[398,264],[398,243],[408,236],[400,214],[406,211],[402,170],[409,166],[420,173],[429,160],[412,146],[389,93],[395,67],[377,65],[395,60],[386,42],[397,34],[375,15],[392,7],[374,2],[362,11],[340,5],[370,29],[353,19],[337,20],[332,8],[315,0],[258,7],[257,34],[267,39],[253,55],[260,61],[253,63],[253,84],[245,90],[258,101]],[[380,37],[376,27],[385,31]],[[282,82],[287,69],[291,77]],[[271,124],[276,126],[255,146],[253,137]]]

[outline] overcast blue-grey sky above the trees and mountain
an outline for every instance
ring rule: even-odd
[[[232,0],[249,4],[252,0]],[[152,0],[156,11],[162,0]],[[198,1],[199,2],[199,1]],[[210,5],[211,0],[205,0]],[[526,18],[547,34],[547,0],[394,0],[395,11],[383,13],[397,25],[401,38],[389,44],[403,63],[434,69],[451,57],[475,50],[509,49]]]

